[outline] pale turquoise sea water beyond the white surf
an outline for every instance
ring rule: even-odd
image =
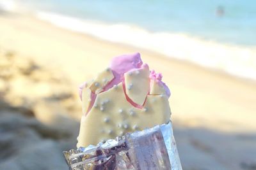
[[[157,32],[256,45],[255,0],[26,0],[24,6],[90,20],[134,24]],[[222,10],[223,15],[218,15]]]

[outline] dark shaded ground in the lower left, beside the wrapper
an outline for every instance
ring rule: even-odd
[[[67,169],[61,152],[74,147],[73,132],[44,125],[14,108],[6,107],[0,116],[0,169]]]

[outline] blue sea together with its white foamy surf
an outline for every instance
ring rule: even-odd
[[[256,80],[254,0],[12,2],[65,29]]]

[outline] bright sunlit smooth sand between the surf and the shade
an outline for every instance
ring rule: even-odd
[[[70,88],[74,90],[106,67],[113,56],[140,52],[142,60],[150,69],[163,73],[163,81],[170,86],[174,124],[214,131],[256,132],[255,81],[60,29],[27,15],[1,15],[0,24],[4,25],[0,27],[1,48],[60,71],[72,80]]]

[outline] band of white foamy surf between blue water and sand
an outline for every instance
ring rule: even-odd
[[[35,17],[57,27],[92,35],[111,43],[136,46],[171,59],[185,60],[234,76],[256,80],[256,46],[220,43],[186,33],[152,32],[127,23],[108,24],[45,11],[36,11]]]

